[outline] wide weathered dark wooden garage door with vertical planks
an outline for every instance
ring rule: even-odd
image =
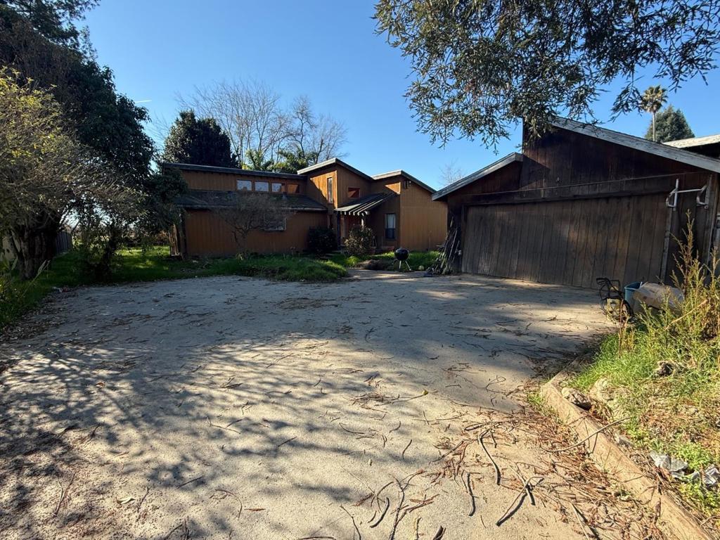
[[[664,194],[466,208],[462,271],[595,287],[660,275]]]

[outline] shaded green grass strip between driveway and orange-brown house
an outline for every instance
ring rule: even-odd
[[[333,282],[347,275],[344,266],[307,256],[257,255],[180,261],[170,258],[166,246],[118,253],[112,276],[102,283],[151,282],[202,276],[257,276],[281,281]],[[77,253],[58,256],[50,268],[32,282],[7,282],[0,276],[0,328],[35,307],[54,287],[97,283],[84,271]]]

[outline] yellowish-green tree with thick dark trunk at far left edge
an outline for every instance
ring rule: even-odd
[[[23,279],[51,258],[68,213],[137,199],[120,176],[73,137],[53,96],[0,72],[0,237],[9,238]]]

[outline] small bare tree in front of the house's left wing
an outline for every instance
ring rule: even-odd
[[[253,230],[284,230],[292,215],[282,197],[265,193],[233,193],[233,204],[215,212],[228,224],[240,253],[246,251],[246,239]]]

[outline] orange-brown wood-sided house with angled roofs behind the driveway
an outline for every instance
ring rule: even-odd
[[[311,228],[330,227],[342,243],[352,228],[365,225],[375,233],[380,251],[405,247],[413,251],[437,248],[446,236],[446,204],[433,201],[435,190],[405,171],[369,176],[333,158],[284,174],[162,163],[179,171],[189,191],[171,238],[171,251],[181,256],[227,256],[238,252],[222,208],[236,197],[259,192],[276,197],[291,215],[281,227],[253,230],[244,248],[256,253],[297,253],[307,249]]]

